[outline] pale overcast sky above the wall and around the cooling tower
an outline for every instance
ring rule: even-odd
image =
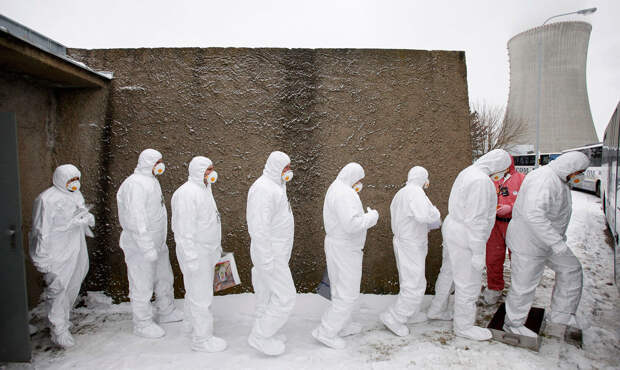
[[[74,48],[464,50],[470,103],[505,105],[506,43],[552,15],[592,24],[588,94],[599,137],[620,100],[620,0],[0,0],[0,14]]]

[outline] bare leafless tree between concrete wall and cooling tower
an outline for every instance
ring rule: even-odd
[[[503,106],[472,105],[469,132],[474,160],[493,149],[510,150],[525,135],[527,126],[523,120],[505,113]]]

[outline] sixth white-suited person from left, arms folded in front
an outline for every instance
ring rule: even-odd
[[[409,334],[407,320],[420,308],[426,291],[428,231],[441,225],[439,210],[424,193],[429,186],[428,171],[424,167],[413,167],[409,170],[407,185],[396,193],[390,205],[400,292],[396,302],[380,315],[380,319],[401,337]]]

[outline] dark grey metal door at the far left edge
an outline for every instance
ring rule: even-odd
[[[30,361],[14,113],[0,112],[0,362]]]

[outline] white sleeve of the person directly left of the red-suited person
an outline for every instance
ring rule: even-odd
[[[484,255],[495,223],[497,193],[492,184],[479,180],[470,184],[466,196],[464,211],[469,248],[474,255]]]

